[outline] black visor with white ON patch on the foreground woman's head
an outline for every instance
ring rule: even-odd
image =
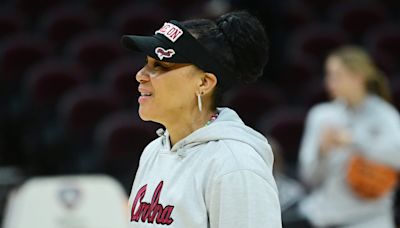
[[[131,50],[145,53],[154,59],[173,63],[191,63],[200,69],[213,73],[220,81],[219,86],[229,87],[234,76],[229,69],[219,64],[182,25],[170,21],[153,36],[122,36],[122,44]]]

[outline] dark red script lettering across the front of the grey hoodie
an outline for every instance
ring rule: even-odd
[[[174,220],[171,218],[171,213],[174,210],[174,206],[167,205],[163,207],[160,203],[160,195],[164,182],[160,181],[157,188],[154,190],[151,203],[143,202],[143,198],[146,195],[147,184],[139,189],[136,197],[132,204],[131,210],[131,222],[142,222],[152,223],[154,221],[157,224],[170,225]]]

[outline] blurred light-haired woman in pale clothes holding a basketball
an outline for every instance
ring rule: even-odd
[[[400,169],[400,118],[388,102],[385,78],[355,46],[335,50],[325,67],[326,87],[334,100],[313,107],[306,120],[299,162],[311,193],[300,212],[318,227],[395,227],[394,185],[368,195],[372,189],[359,188],[353,178],[356,157],[372,164],[364,167],[371,178],[382,167],[389,170],[373,181],[378,187]],[[393,178],[391,183],[396,174]]]

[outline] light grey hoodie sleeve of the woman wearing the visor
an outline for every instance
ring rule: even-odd
[[[210,196],[210,228],[282,227],[273,183],[250,170],[233,171],[216,179]]]

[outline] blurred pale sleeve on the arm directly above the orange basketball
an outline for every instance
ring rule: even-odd
[[[397,111],[387,110],[379,117],[373,141],[355,137],[354,144],[373,160],[400,170],[400,117]]]

